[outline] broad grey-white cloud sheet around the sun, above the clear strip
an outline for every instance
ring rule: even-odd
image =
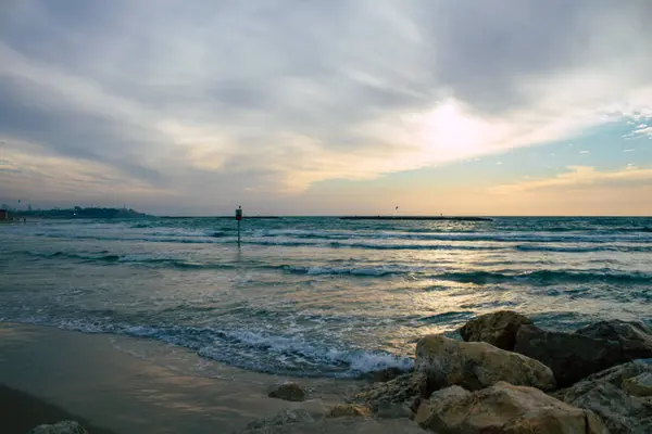
[[[644,1],[26,0],[3,9],[0,136],[13,143],[12,164],[84,166],[87,177],[41,162],[30,176],[96,194],[106,174],[161,204],[171,194],[191,203],[296,193],[652,113]],[[93,174],[104,175],[93,183]],[[5,194],[17,194],[15,180]],[[36,181],[21,186],[46,194]]]

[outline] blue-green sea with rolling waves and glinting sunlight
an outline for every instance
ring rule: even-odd
[[[652,324],[652,218],[148,218],[0,226],[0,321],[131,336],[291,376],[410,369],[499,309]]]

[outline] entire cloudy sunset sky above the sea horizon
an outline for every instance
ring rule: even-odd
[[[0,203],[652,215],[649,0],[0,0]]]

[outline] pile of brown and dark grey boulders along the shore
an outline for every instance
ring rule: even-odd
[[[612,320],[561,333],[498,311],[460,332],[463,341],[423,336],[413,371],[378,372],[322,412],[302,407],[314,391],[273,385],[266,399],[289,407],[240,432],[652,434],[652,331],[644,324]],[[70,424],[38,430],[86,433]]]

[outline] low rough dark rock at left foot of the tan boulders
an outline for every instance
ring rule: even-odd
[[[427,378],[423,373],[406,373],[386,383],[376,383],[354,395],[352,403],[363,404],[374,412],[378,408],[392,404],[412,404],[414,399],[425,397]]]

